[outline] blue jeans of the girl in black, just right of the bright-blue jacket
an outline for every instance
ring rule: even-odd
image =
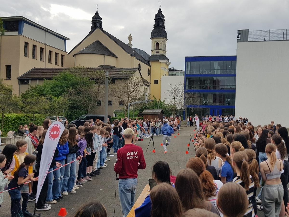
[[[75,153],[67,155],[67,162],[70,163],[71,161],[76,160]],[[64,167],[64,176],[63,176],[63,184],[62,184],[62,192],[68,191],[71,192],[74,185],[75,180],[75,171],[76,171],[76,161],[70,163]]]

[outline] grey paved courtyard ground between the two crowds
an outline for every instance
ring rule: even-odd
[[[147,167],[145,170],[138,170],[138,186],[136,191],[135,200],[142,192],[145,185],[148,184],[148,179],[151,179],[152,166],[156,161],[166,161],[169,163],[173,175],[177,175],[178,171],[186,167],[186,162],[189,158],[195,156],[193,145],[190,147],[188,155],[186,150],[188,149],[187,144],[190,141],[190,134],[194,134],[193,127],[183,127],[179,131],[179,135],[176,138],[172,136],[171,144],[168,146],[168,154],[164,155],[164,149],[160,145],[162,143],[162,136],[154,136],[155,153],[152,153],[153,145],[152,142],[147,150],[150,138],[144,139],[143,141],[136,141],[137,145],[142,147],[144,151],[144,157],[146,160]],[[192,144],[192,143],[191,143]],[[76,210],[84,203],[88,201],[100,201],[106,208],[108,216],[112,217],[114,212],[114,195],[115,195],[115,173],[113,165],[116,162],[115,157],[110,157],[110,161],[107,161],[107,168],[101,170],[101,175],[93,177],[94,179],[77,190],[76,194],[69,194],[64,196],[64,200],[52,204],[49,211],[36,212],[41,213],[41,216],[57,216],[60,208],[66,208],[67,216],[74,216]],[[2,203],[0,216],[10,216],[10,198],[7,192],[4,193],[4,202]],[[34,211],[34,202],[28,203],[28,209],[30,212]],[[261,214],[261,215],[260,215]],[[258,216],[263,216],[264,213],[259,211]],[[121,206],[118,197],[118,184],[116,191],[116,208],[115,216],[120,217]]]

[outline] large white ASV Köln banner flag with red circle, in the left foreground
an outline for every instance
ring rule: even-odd
[[[47,130],[44,143],[43,143],[43,149],[42,149],[42,155],[41,155],[41,161],[40,161],[35,203],[37,203],[38,201],[38,197],[42,189],[43,183],[45,181],[45,178],[47,176],[49,167],[51,165],[56,146],[58,144],[58,141],[64,129],[65,127],[61,122],[55,121],[49,126]]]

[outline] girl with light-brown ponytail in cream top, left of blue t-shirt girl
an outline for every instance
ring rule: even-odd
[[[216,169],[217,175],[220,174],[220,168],[222,165],[222,160],[218,157],[216,157],[216,142],[212,138],[205,139],[204,141],[204,147],[208,151],[207,161],[208,165],[213,166]]]

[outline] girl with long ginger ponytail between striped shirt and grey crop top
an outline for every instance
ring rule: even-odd
[[[257,203],[256,203],[256,190],[257,187],[260,187],[260,180],[259,180],[259,165],[256,160],[256,152],[253,149],[245,149],[244,153],[248,157],[248,164],[249,164],[249,171],[250,175],[252,176],[252,179],[254,181],[254,191],[253,191],[253,198],[251,200],[251,203],[254,208],[255,214],[257,214]]]

